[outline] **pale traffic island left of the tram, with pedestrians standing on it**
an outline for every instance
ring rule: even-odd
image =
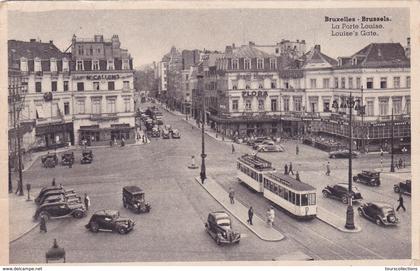
[[[208,178],[201,184],[199,177],[195,180],[203,186],[204,189],[217,200],[229,213],[236,217],[244,226],[250,231],[255,233],[259,238],[264,241],[281,241],[284,239],[284,235],[281,234],[274,228],[268,228],[265,220],[254,214],[253,225],[247,223],[248,220],[248,207],[244,206],[241,202],[235,201],[235,204],[231,204],[229,200],[229,194],[225,191],[221,185],[219,185],[214,179]]]

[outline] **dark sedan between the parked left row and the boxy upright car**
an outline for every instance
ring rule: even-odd
[[[92,215],[89,223],[85,225],[91,232],[113,231],[120,234],[130,232],[134,228],[134,221],[129,218],[120,217],[115,210],[101,210]]]

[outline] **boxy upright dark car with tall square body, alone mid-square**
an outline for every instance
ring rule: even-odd
[[[146,202],[143,189],[137,186],[123,187],[123,205],[124,208],[134,210],[136,213],[150,212],[150,203]]]

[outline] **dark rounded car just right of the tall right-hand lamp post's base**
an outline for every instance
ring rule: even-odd
[[[360,216],[375,221],[377,225],[389,226],[398,223],[394,208],[384,202],[363,203],[357,211]]]

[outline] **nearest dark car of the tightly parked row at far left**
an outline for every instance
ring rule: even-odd
[[[86,215],[86,209],[80,202],[53,202],[45,203],[38,207],[34,220],[44,216],[45,219],[73,216],[82,218]]]

